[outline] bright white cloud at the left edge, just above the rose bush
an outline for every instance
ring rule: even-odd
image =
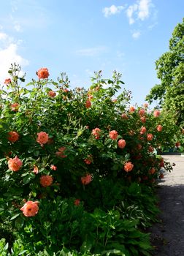
[[[18,42],[13,41],[15,40],[12,37],[0,33],[0,83],[4,83],[4,80],[9,77],[8,70],[11,64],[19,64],[22,69],[28,65],[28,60],[18,54],[20,40]]]

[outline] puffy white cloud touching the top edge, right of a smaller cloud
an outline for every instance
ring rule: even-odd
[[[129,18],[129,24],[133,24],[135,20],[145,20],[150,16],[151,0],[138,0],[136,4],[132,4],[126,10]]]

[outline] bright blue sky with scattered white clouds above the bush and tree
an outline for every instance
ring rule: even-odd
[[[53,79],[66,72],[72,88],[88,88],[94,71],[110,78],[117,70],[132,104],[141,105],[159,82],[155,61],[183,10],[183,0],[1,1],[0,81],[13,62],[27,82],[47,67]]]

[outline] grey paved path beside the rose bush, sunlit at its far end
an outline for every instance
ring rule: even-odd
[[[184,256],[184,157],[164,155],[175,163],[171,173],[164,173],[158,183],[161,223],[151,227],[151,238],[156,246],[155,256]]]

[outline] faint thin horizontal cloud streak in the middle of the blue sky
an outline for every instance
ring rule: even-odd
[[[94,48],[84,48],[80,50],[76,50],[76,54],[80,56],[99,56],[101,53],[107,53],[107,46],[99,46]]]

